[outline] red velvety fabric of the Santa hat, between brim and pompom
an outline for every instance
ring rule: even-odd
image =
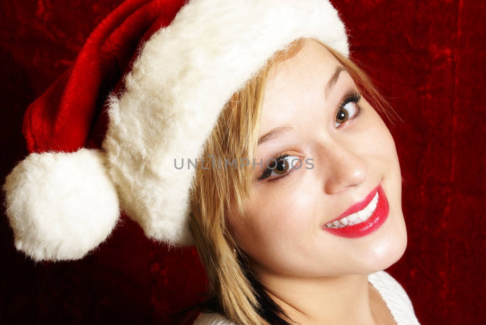
[[[127,0],[96,27],[74,64],[25,112],[29,153],[101,148],[104,99],[123,86],[137,49],[170,24],[184,0]]]

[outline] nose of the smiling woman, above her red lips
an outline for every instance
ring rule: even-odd
[[[359,148],[339,143],[328,144],[321,157],[326,193],[336,194],[366,180],[368,161],[361,155]]]

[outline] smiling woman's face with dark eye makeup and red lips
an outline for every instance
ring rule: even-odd
[[[252,270],[330,276],[395,263],[407,243],[395,143],[346,69],[308,41],[270,70],[262,109],[256,162],[287,157],[274,171],[256,165],[248,214],[230,217]]]

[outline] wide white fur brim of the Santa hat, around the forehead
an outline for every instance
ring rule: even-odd
[[[231,95],[275,51],[313,37],[348,55],[347,34],[327,0],[192,0],[144,44],[111,95],[103,143],[121,208],[145,234],[194,243],[188,227],[194,161]]]

